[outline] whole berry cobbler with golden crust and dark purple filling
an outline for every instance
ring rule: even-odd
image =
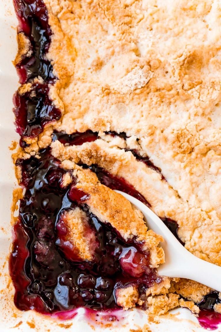
[[[221,319],[221,294],[159,276],[150,207],[221,265],[221,3],[14,0],[20,190],[15,305],[53,313],[135,306]],[[211,323],[212,324],[212,323]]]

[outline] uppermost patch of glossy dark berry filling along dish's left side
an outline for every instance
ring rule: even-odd
[[[48,13],[42,0],[14,0],[14,7],[19,21],[18,31],[23,32],[31,43],[32,53],[24,56],[16,65],[20,83],[41,76],[43,80],[53,81],[52,65],[46,59],[51,41],[51,29]]]

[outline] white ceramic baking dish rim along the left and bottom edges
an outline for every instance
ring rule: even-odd
[[[39,315],[31,310],[21,312],[13,304],[13,287],[9,283],[7,255],[11,243],[11,202],[12,190],[16,186],[11,151],[9,145],[12,140],[18,140],[13,124],[12,96],[18,88],[18,77],[12,65],[16,53],[16,25],[17,20],[12,0],[0,0],[0,327],[2,331],[45,332],[45,331],[75,331],[90,332],[104,331],[99,324],[88,324],[83,315],[83,309],[71,321],[59,321],[50,317]],[[141,310],[122,313],[124,318],[114,323],[105,331],[129,331],[137,329],[148,323],[147,315]],[[171,315],[173,314],[173,315]],[[160,317],[160,324],[149,324],[153,332],[183,331],[204,332],[197,319],[188,309],[176,309],[168,316]],[[102,318],[99,318],[102,319]],[[72,325],[66,329],[62,324]],[[35,325],[35,329],[31,328]],[[93,327],[91,327],[91,324]],[[13,328],[13,329],[12,329]],[[218,330],[217,330],[218,331]],[[221,329],[219,329],[221,331]]]

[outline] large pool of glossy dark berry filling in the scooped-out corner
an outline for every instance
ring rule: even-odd
[[[134,284],[142,293],[159,277],[148,267],[149,253],[142,252],[142,243],[124,241],[111,225],[88,211],[83,192],[75,193],[70,185],[63,188],[64,170],[59,165],[49,149],[40,151],[39,159],[17,161],[26,191],[13,228],[9,261],[15,304],[42,313],[79,306],[115,308],[115,289]],[[90,262],[69,259],[57,245],[60,213],[76,206],[87,213],[99,244]]]

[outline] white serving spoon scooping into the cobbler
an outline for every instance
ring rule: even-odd
[[[149,229],[163,236],[164,242],[161,243],[161,246],[165,252],[165,263],[157,269],[159,275],[191,279],[214,290],[221,291],[220,266],[206,262],[191,254],[149,207],[131,195],[118,190],[116,192],[123,195],[143,213]]]

